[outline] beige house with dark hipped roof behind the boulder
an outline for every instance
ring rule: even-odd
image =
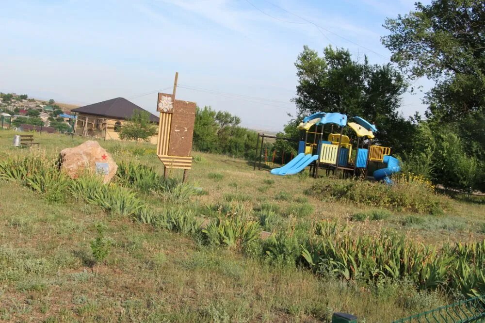
[[[119,140],[119,131],[135,111],[145,111],[136,104],[123,97],[116,97],[76,109],[76,134],[105,139]],[[150,113],[150,121],[158,124],[159,118]],[[157,136],[150,138],[150,142],[157,143]]]

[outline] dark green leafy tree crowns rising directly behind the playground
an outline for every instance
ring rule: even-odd
[[[342,48],[327,47],[320,57],[305,46],[295,63],[298,117],[318,111],[361,116],[377,125],[376,139],[403,151],[413,125],[398,113],[406,82],[390,64],[352,60]]]

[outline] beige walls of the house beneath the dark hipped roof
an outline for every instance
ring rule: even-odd
[[[76,134],[83,134],[84,122],[87,120],[87,135],[97,138],[105,138],[106,140],[121,140],[119,132],[115,131],[116,123],[121,123],[121,127],[127,123],[126,120],[115,118],[103,118],[92,114],[78,113],[78,121],[76,125]],[[157,125],[158,129],[158,125]],[[106,130],[106,131],[105,131]],[[149,142],[157,144],[157,135],[150,137]]]

